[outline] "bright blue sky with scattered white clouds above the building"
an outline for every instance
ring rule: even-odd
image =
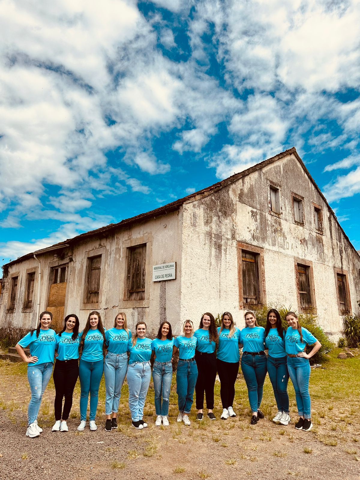
[[[0,261],[295,146],[360,249],[357,0],[2,0]]]

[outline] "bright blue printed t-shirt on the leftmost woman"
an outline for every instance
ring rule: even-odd
[[[40,365],[40,363],[54,363],[56,333],[52,328],[48,330],[42,330],[40,328],[38,337],[36,336],[36,331],[33,332],[33,334],[29,332],[18,344],[23,348],[29,347],[30,355],[38,359],[35,363],[28,363],[28,367]]]

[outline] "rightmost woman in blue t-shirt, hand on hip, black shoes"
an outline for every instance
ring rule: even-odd
[[[294,312],[286,314],[289,328],[285,336],[285,349],[288,355],[288,371],[294,385],[299,421],[297,430],[309,432],[312,429],[311,400],[309,394],[309,359],[321,348],[321,343],[306,328],[302,328]],[[313,345],[310,353],[305,352],[306,345]]]

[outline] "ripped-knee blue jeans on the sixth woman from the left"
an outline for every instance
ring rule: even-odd
[[[166,417],[169,413],[169,396],[172,381],[172,363],[154,362],[153,381],[155,390],[156,415]]]

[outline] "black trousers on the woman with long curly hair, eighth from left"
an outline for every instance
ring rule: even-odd
[[[201,353],[195,351],[198,376],[195,385],[196,408],[204,408],[204,394],[206,396],[206,408],[214,408],[214,385],[216,380],[216,357],[215,353]]]

